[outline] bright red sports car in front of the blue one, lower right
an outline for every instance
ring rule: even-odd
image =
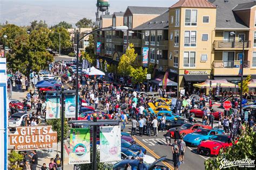
[[[237,140],[235,141],[235,144]],[[207,156],[216,156],[219,154],[221,148],[232,146],[232,141],[230,136],[226,134],[216,134],[211,139],[201,141],[197,147],[197,153],[207,155]]]

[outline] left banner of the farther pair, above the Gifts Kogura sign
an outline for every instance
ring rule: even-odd
[[[46,98],[46,119],[60,118],[59,96],[48,96]]]

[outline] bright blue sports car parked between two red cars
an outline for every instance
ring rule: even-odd
[[[198,146],[201,141],[208,140],[213,137],[215,134],[222,134],[224,130],[221,129],[203,129],[200,128],[193,133],[188,133],[183,138],[185,143],[190,146]]]

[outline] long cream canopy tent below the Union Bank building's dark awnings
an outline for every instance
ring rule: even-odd
[[[222,88],[239,88],[236,84],[230,83],[225,79],[221,80],[206,80],[203,83],[193,84],[194,87],[198,87],[200,89],[210,88],[210,82],[212,82],[212,88],[217,86],[217,83],[220,84],[219,86]]]

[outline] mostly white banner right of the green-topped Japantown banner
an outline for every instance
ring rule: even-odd
[[[121,127],[100,127],[100,162],[121,160]]]

